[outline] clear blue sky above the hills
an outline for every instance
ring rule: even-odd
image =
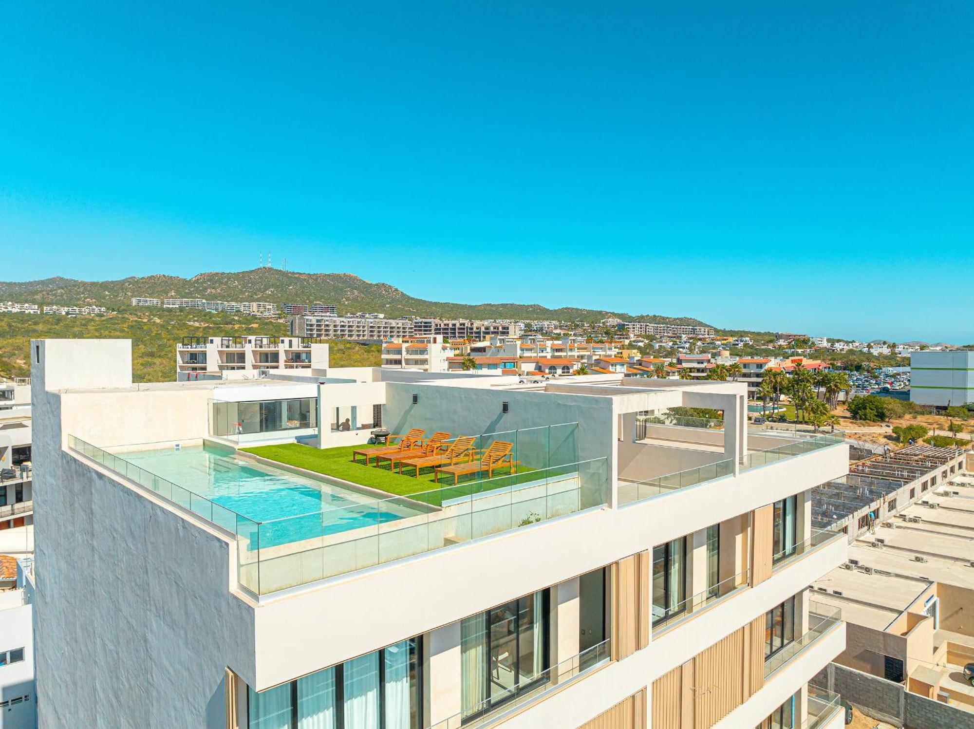
[[[3,3],[0,278],[272,251],[970,342],[972,37],[969,0]]]

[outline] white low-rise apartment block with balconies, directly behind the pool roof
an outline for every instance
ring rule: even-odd
[[[298,336],[184,336],[176,345],[176,379],[256,375],[262,370],[323,370],[328,345]]]

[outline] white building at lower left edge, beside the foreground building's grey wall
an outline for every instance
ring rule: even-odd
[[[31,559],[0,555],[0,727],[36,729]]]

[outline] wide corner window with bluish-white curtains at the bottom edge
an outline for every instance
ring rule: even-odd
[[[247,690],[249,729],[421,729],[420,638]]]

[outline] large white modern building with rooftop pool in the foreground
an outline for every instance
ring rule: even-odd
[[[846,539],[809,489],[848,448],[749,429],[743,383],[31,359],[42,729],[842,726],[807,682],[844,624],[807,588]],[[250,444],[337,475],[238,450],[244,409]],[[353,463],[376,421],[425,440]]]

